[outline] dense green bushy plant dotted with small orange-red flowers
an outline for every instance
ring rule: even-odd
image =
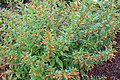
[[[114,1],[32,0],[0,10],[2,79],[90,80],[90,68],[114,58],[115,8]]]

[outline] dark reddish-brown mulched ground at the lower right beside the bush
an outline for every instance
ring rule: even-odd
[[[120,80],[120,33],[118,33],[116,38],[117,45],[114,48],[117,50],[115,53],[115,59],[112,59],[112,62],[107,61],[103,64],[95,65],[94,68],[88,73],[94,77],[97,76],[106,76],[106,80]]]

